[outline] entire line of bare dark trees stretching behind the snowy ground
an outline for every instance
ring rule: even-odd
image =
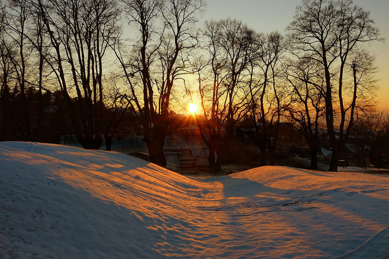
[[[371,134],[355,150],[385,150],[377,136],[389,117],[375,110],[377,67],[366,49],[384,39],[370,12],[352,0],[303,0],[285,33],[263,33],[231,17],[199,24],[205,8],[203,0],[2,1],[0,141],[74,134],[99,149],[104,136],[110,149],[115,134],[141,125],[151,161],[165,166],[184,94],[200,99],[216,171],[231,161],[242,123],[255,128],[261,165],[274,164],[285,122],[304,136],[313,169],[323,138],[330,171],[350,138]]]

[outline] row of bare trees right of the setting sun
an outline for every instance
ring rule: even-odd
[[[209,52],[204,74],[213,85],[199,84],[199,90],[216,167],[228,160],[226,139],[248,112],[259,122],[261,165],[266,149],[273,163],[280,118],[289,116],[312,150],[312,168],[317,167],[319,129],[327,129],[333,151],[329,170],[336,171],[356,111],[368,111],[374,97],[377,68],[363,43],[383,39],[370,13],[352,1],[305,0],[287,27],[288,40],[277,31],[256,33],[233,19],[209,21],[204,30]]]

